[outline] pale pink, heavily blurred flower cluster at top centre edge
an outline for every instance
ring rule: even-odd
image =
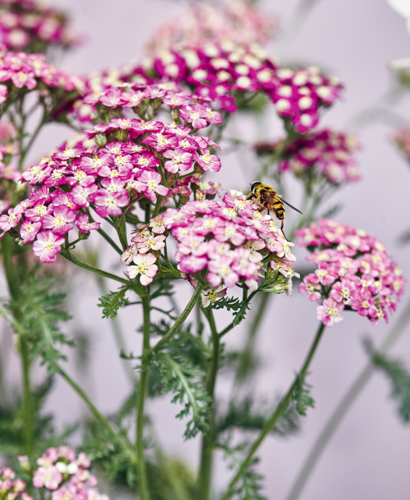
[[[161,24],[147,48],[156,57],[170,49],[202,48],[226,40],[264,44],[276,28],[276,19],[247,1],[221,6],[197,3],[184,9],[178,19]]]

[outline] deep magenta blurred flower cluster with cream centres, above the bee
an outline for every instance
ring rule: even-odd
[[[264,90],[278,114],[299,132],[313,128],[319,108],[333,104],[342,89],[336,77],[328,78],[316,66],[278,68],[256,43],[226,41],[170,50],[146,63],[148,73],[149,64],[160,77],[187,83],[199,98],[228,112],[237,109],[235,91]]]

